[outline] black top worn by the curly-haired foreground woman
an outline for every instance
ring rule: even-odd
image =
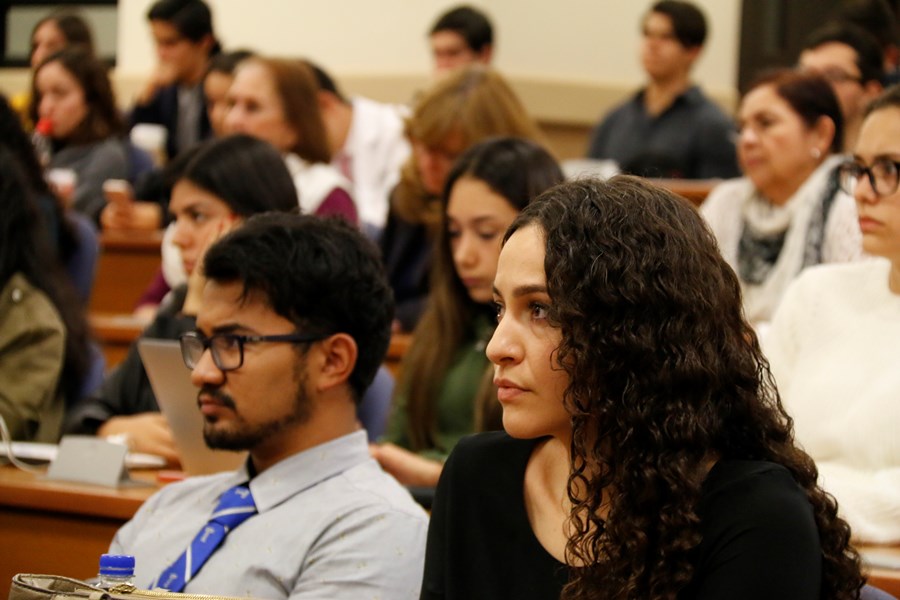
[[[434,500],[421,598],[559,597],[566,568],[540,545],[525,512],[525,467],[538,441],[492,432],[456,446]],[[680,599],[819,598],[818,530],[787,469],[720,460],[697,511],[703,540]]]

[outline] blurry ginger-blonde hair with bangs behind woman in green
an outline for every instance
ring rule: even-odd
[[[459,136],[462,150],[494,136],[543,142],[519,97],[503,77],[484,65],[470,65],[437,82],[416,103],[406,134],[429,147]],[[404,165],[391,202],[402,219],[425,224],[432,232],[441,222],[440,202],[426,191],[415,156]]]

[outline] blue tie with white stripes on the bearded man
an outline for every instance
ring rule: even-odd
[[[156,578],[150,588],[181,592],[232,529],[256,514],[249,484],[236,485],[219,498],[216,510],[187,550]]]

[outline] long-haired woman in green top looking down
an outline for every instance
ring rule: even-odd
[[[484,355],[500,238],[563,174],[534,142],[494,138],[466,151],[446,180],[429,302],[403,360],[388,443],[374,451],[401,483],[424,487],[437,485],[461,437],[500,426]]]

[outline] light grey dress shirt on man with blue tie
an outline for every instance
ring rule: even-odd
[[[133,554],[146,587],[187,547],[238,471],[191,477],[147,500],[110,552]],[[364,431],[250,481],[259,511],[225,538],[185,593],[348,600],[418,598],[428,518],[369,455]]]

